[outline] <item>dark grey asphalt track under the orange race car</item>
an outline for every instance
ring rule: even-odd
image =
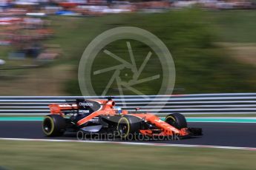
[[[0,137],[76,140],[76,134],[66,134],[64,137],[45,137],[42,133],[41,123],[41,121],[1,121]],[[203,136],[183,140],[146,142],[256,147],[256,123],[188,123],[188,126],[203,128]]]

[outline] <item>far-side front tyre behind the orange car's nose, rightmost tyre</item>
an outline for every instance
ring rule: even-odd
[[[188,126],[186,118],[180,113],[173,113],[173,114],[167,115],[165,117],[165,122],[170,124],[171,126],[174,126],[177,129],[183,129]]]

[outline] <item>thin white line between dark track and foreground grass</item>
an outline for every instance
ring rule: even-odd
[[[40,141],[40,142],[77,142],[77,143],[114,143],[120,145],[137,145],[137,146],[172,146],[172,147],[191,147],[191,148],[210,148],[210,149],[240,149],[246,151],[256,151],[251,147],[236,146],[209,146],[209,145],[188,145],[188,144],[168,144],[168,143],[137,143],[137,142],[114,142],[114,141],[95,141],[95,140],[53,140],[53,139],[26,139],[26,138],[4,138],[0,140],[17,140],[17,141]]]

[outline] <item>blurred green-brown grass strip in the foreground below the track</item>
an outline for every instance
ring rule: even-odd
[[[0,140],[6,169],[255,169],[256,152]]]

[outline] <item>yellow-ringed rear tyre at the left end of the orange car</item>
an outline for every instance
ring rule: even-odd
[[[42,130],[47,136],[62,136],[65,132],[65,119],[61,115],[47,115]]]

